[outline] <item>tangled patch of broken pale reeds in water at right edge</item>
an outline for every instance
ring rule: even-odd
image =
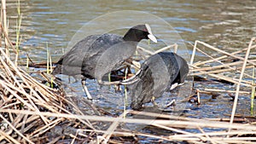
[[[206,49],[202,50],[198,48],[198,44],[203,45],[204,48],[206,49],[213,50],[214,54],[218,54],[221,56],[213,58],[211,55],[208,55],[207,52],[205,52],[207,51]],[[247,48],[241,49],[233,53],[228,53],[224,50],[214,48],[211,45],[207,43],[203,43],[201,41],[195,41],[193,54],[190,60],[190,66],[192,66],[190,75],[192,76],[204,75],[207,77],[218,78],[218,79],[236,84],[236,91],[235,91],[236,96],[235,96],[234,105],[232,109],[232,115],[230,118],[230,124],[232,124],[234,120],[238,96],[241,93],[240,92],[241,86],[245,86],[247,89],[251,89],[252,91],[251,113],[252,115],[254,114],[253,101],[254,101],[255,94],[253,91],[255,91],[255,85],[254,85],[254,79],[255,79],[254,68],[256,64],[255,48],[256,48],[255,37],[252,37]],[[210,60],[198,61],[194,63],[196,52],[206,55]],[[228,76],[227,76],[227,72],[229,72]],[[236,73],[239,73],[239,78],[237,78],[238,74]],[[216,91],[214,89],[205,89],[205,90]],[[225,90],[219,90],[219,92],[221,91],[225,92]]]

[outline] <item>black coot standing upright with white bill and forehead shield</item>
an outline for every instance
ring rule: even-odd
[[[115,70],[134,55],[137,43],[142,39],[157,42],[148,24],[131,27],[124,37],[109,33],[85,37],[67,54],[61,56],[52,74],[68,76],[82,74],[84,92],[91,99],[85,86],[86,78],[96,78],[99,84],[110,84],[102,81],[103,75]]]

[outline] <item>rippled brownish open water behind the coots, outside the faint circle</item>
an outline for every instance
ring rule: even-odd
[[[8,3],[10,29],[16,23],[15,1]],[[138,10],[166,20],[185,42],[201,40],[223,49],[241,49],[255,36],[256,2],[245,1],[21,1],[22,48],[36,61],[44,58],[46,43],[56,52],[62,49],[86,22],[119,10]],[[125,17],[122,18],[125,20]],[[40,59],[37,59],[40,58]]]

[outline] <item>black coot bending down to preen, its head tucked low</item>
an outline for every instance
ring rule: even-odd
[[[160,97],[166,90],[183,84],[188,72],[187,61],[172,52],[150,56],[136,76],[139,80],[131,85],[131,108],[140,109],[153,97]]]

